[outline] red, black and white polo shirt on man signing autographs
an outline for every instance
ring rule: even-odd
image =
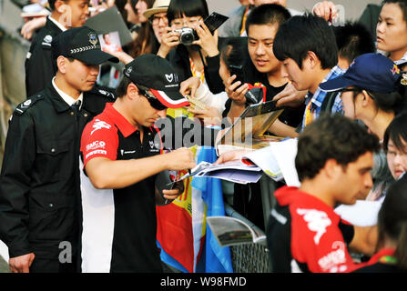
[[[84,165],[95,157],[129,160],[159,155],[158,131],[140,132],[107,104],[86,125],[81,140]],[[143,169],[139,169],[142,171]],[[81,171],[82,272],[162,272],[156,245],[155,176],[121,189],[96,189]]]

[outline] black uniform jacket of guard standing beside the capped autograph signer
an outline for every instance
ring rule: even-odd
[[[10,257],[57,259],[63,241],[75,252],[79,138],[112,100],[104,91],[86,92],[76,116],[49,84],[15,108],[0,176],[0,239]]]

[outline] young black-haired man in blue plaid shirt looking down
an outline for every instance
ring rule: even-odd
[[[280,26],[274,40],[273,51],[283,63],[283,75],[298,90],[308,90],[300,129],[318,118],[323,111],[326,92],[319,85],[344,71],[338,64],[338,47],[331,27],[321,17],[294,16]],[[342,112],[339,95],[328,111]]]

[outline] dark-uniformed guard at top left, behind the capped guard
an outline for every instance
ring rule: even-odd
[[[34,37],[25,59],[27,98],[45,89],[56,75],[57,68],[52,59],[52,40],[66,28],[84,25],[86,16],[89,15],[88,0],[48,0],[48,4],[51,15],[46,18],[46,25]]]

